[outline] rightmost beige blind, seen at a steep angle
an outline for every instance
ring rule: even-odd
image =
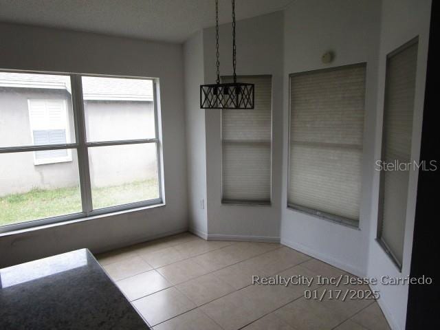
[[[411,159],[417,43],[388,56],[382,161],[408,164]],[[405,166],[406,167],[406,166]],[[412,168],[412,167],[411,167]],[[382,170],[380,238],[401,265],[404,252],[409,170]]]

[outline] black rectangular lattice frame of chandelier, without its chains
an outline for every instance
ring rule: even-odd
[[[200,85],[201,109],[254,109],[254,84]]]

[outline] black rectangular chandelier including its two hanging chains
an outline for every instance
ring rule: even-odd
[[[232,67],[234,83],[220,83],[219,0],[215,0],[215,35],[217,46],[217,81],[200,85],[201,109],[254,109],[254,84],[236,82],[235,0],[232,0]]]

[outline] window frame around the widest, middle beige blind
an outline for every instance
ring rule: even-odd
[[[300,206],[298,204],[295,203],[289,203],[289,187],[290,187],[290,160],[291,160],[291,146],[290,146],[290,142],[291,142],[291,135],[292,135],[292,130],[291,130],[291,122],[292,122],[292,77],[294,76],[300,76],[301,74],[307,74],[307,73],[311,73],[311,72],[331,72],[331,71],[336,71],[338,69],[341,68],[347,68],[347,67],[356,67],[356,66],[360,66],[360,65],[364,65],[365,67],[365,79],[366,79],[366,74],[367,74],[367,68],[368,68],[368,63],[366,62],[359,62],[359,63],[351,63],[351,64],[346,64],[346,65],[338,65],[336,67],[325,67],[322,69],[311,69],[311,70],[306,70],[303,72],[294,72],[289,74],[289,118],[288,118],[288,130],[287,130],[287,190],[286,190],[286,201],[287,201],[287,205],[286,208],[287,210],[291,210],[291,211],[295,211],[295,212],[300,212],[303,214],[307,214],[310,217],[315,217],[317,219],[322,219],[325,221],[329,221],[331,223],[336,223],[338,225],[344,225],[345,227],[354,229],[354,230],[360,230],[361,228],[361,214],[359,216],[358,221],[353,221],[353,219],[349,219],[346,217],[341,217],[339,215],[336,214],[331,214],[329,212],[325,212],[325,211],[320,211],[320,210],[316,210],[314,208],[307,208],[306,206]],[[366,88],[366,86],[365,86]],[[364,99],[364,126],[365,126],[365,115],[366,115],[366,94],[365,94],[365,99]],[[364,135],[364,131],[362,131],[362,134]],[[364,143],[364,142],[363,142]],[[362,144],[362,147],[364,146],[364,144]],[[362,155],[364,154],[364,151],[362,150]],[[361,194],[362,194],[362,182],[361,182]],[[361,202],[362,202],[362,198],[361,198]],[[362,209],[362,205],[360,204],[360,210]]]

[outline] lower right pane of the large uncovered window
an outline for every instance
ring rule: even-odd
[[[94,209],[159,198],[156,144],[89,148]]]

